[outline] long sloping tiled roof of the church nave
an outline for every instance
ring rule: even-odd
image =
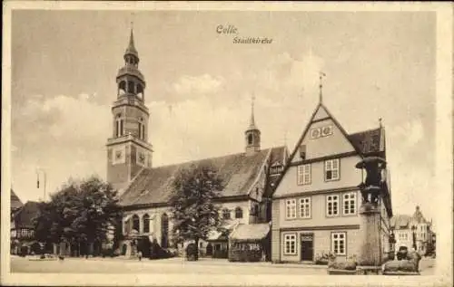
[[[225,181],[222,197],[248,196],[267,158],[285,155],[284,147],[266,148],[252,155],[244,152],[219,158],[205,158],[181,164],[143,168],[120,196],[121,206],[165,205],[172,196],[173,179],[180,169],[191,164],[211,164]],[[275,159],[275,160],[276,160]]]

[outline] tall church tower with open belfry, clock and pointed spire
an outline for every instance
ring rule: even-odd
[[[145,79],[139,71],[139,53],[133,29],[116,76],[117,96],[112,107],[112,138],[107,139],[107,181],[122,193],[144,167],[152,167],[148,142],[150,114],[145,106]]]

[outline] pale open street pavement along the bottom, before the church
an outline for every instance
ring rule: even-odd
[[[423,258],[421,275],[433,275],[435,260]],[[192,274],[292,274],[326,275],[326,266],[272,263],[231,263],[223,259],[187,262],[183,258],[127,260],[118,258],[66,258],[64,261],[34,261],[13,256],[12,273],[192,273]]]

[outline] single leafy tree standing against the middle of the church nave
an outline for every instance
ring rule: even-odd
[[[211,231],[225,232],[220,206],[214,203],[222,189],[222,178],[211,165],[192,164],[180,170],[169,201],[175,243],[193,240],[198,248],[199,240],[206,240]]]

